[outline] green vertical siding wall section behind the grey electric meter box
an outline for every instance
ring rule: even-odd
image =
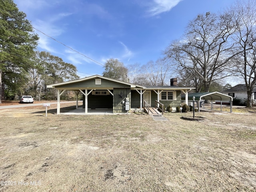
[[[113,94],[113,113],[126,113],[125,104],[122,101],[125,101],[125,98],[128,97],[131,105],[131,89],[114,88]]]

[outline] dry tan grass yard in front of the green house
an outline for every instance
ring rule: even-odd
[[[256,191],[255,110],[199,122],[53,112],[0,110],[1,192]]]

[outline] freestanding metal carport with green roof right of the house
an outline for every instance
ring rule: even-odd
[[[198,112],[200,112],[200,100],[210,100],[211,109],[213,109],[213,100],[220,100],[220,111],[222,111],[222,101],[230,101],[230,113],[232,113],[232,96],[225,95],[220,92],[205,92],[205,93],[190,93],[188,94],[188,100],[193,100],[197,102]]]

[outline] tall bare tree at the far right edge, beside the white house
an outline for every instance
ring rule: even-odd
[[[252,93],[256,85],[256,1],[237,1],[228,12],[236,25],[233,40],[238,47],[234,52],[240,53],[234,60],[235,70],[246,84],[247,107],[252,107]]]

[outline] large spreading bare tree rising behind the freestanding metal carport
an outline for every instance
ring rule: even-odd
[[[234,25],[228,14],[207,12],[190,21],[186,31],[184,38],[172,42],[164,53],[178,65],[178,70],[189,72],[188,76],[199,86],[197,91],[203,86],[208,92],[213,81],[231,75],[230,59],[236,54],[230,51],[233,44],[228,39],[235,31]]]

